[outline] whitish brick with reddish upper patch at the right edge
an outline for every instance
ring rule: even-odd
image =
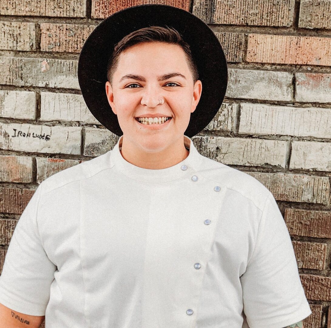
[[[295,73],[295,100],[302,102],[331,102],[331,74]]]

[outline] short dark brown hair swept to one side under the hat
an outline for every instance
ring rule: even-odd
[[[193,82],[199,79],[196,63],[192,58],[190,45],[182,39],[182,36],[173,27],[151,26],[140,28],[124,36],[114,46],[114,51],[108,60],[107,79],[112,84],[113,74],[118,66],[119,55],[122,51],[141,42],[165,42],[179,45],[185,52],[188,67],[192,73]]]

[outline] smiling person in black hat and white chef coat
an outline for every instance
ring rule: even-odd
[[[85,41],[78,80],[119,138],[38,186],[0,276],[0,327],[18,313],[46,328],[302,327],[311,310],[275,198],[192,138],[226,91],[213,31],[175,7],[129,7]]]

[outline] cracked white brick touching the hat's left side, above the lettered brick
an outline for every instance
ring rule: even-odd
[[[41,92],[40,120],[101,124],[87,108],[81,94],[43,91]]]

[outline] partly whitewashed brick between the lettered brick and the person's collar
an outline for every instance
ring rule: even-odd
[[[119,137],[107,129],[84,127],[84,156],[99,156],[113,149]]]

